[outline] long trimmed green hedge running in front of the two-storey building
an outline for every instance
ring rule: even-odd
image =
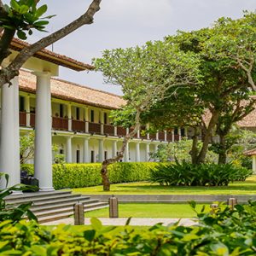
[[[151,170],[162,163],[116,163],[108,167],[111,183],[147,181]],[[33,173],[32,165],[22,165],[22,170]],[[55,189],[84,188],[102,184],[101,164],[58,164],[53,165]],[[39,184],[40,185],[40,184]]]

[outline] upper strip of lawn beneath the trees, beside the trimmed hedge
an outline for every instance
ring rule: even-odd
[[[175,187],[145,182],[112,184],[108,192],[103,191],[102,186],[73,189],[73,192],[93,195],[253,195],[256,194],[256,176],[224,187]]]

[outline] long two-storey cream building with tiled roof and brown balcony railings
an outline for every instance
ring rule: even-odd
[[[20,135],[35,127],[36,77],[20,71]],[[111,125],[109,113],[125,105],[122,97],[79,84],[50,79],[52,143],[65,154],[67,163],[101,162],[113,157],[129,129]],[[130,129],[131,131],[131,129]],[[160,143],[177,141],[185,129],[156,134],[138,132],[129,143],[123,161],[148,161]]]

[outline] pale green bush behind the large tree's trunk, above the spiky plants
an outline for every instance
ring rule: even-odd
[[[201,142],[198,143],[198,148],[201,148]],[[186,161],[191,162],[190,150],[192,148],[192,140],[183,138],[181,141],[177,141],[169,144],[160,144],[155,153],[150,155],[151,160],[160,162],[175,161],[178,162]],[[217,154],[209,151],[207,152],[206,162],[216,162]]]

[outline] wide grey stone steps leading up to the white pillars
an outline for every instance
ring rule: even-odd
[[[20,205],[32,201],[31,210],[38,217],[39,223],[68,218],[73,215],[73,205],[76,202],[84,204],[84,212],[108,207],[107,202],[90,199],[88,195],[71,194],[70,191],[32,192],[22,195],[9,195],[8,204]]]

